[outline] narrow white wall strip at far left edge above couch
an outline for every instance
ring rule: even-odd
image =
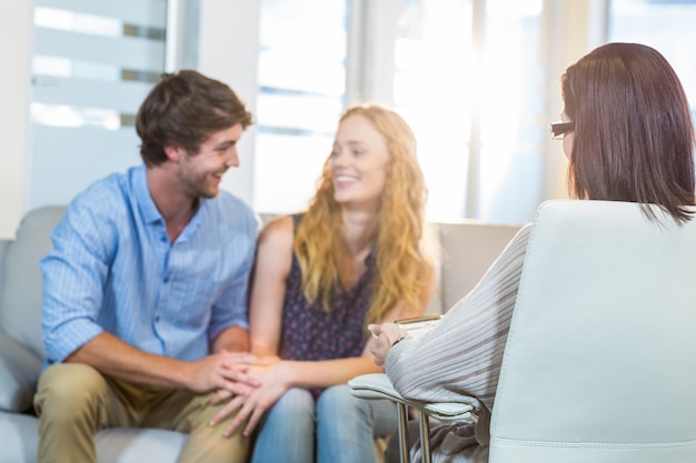
[[[33,0],[0,1],[0,239],[24,213]]]

